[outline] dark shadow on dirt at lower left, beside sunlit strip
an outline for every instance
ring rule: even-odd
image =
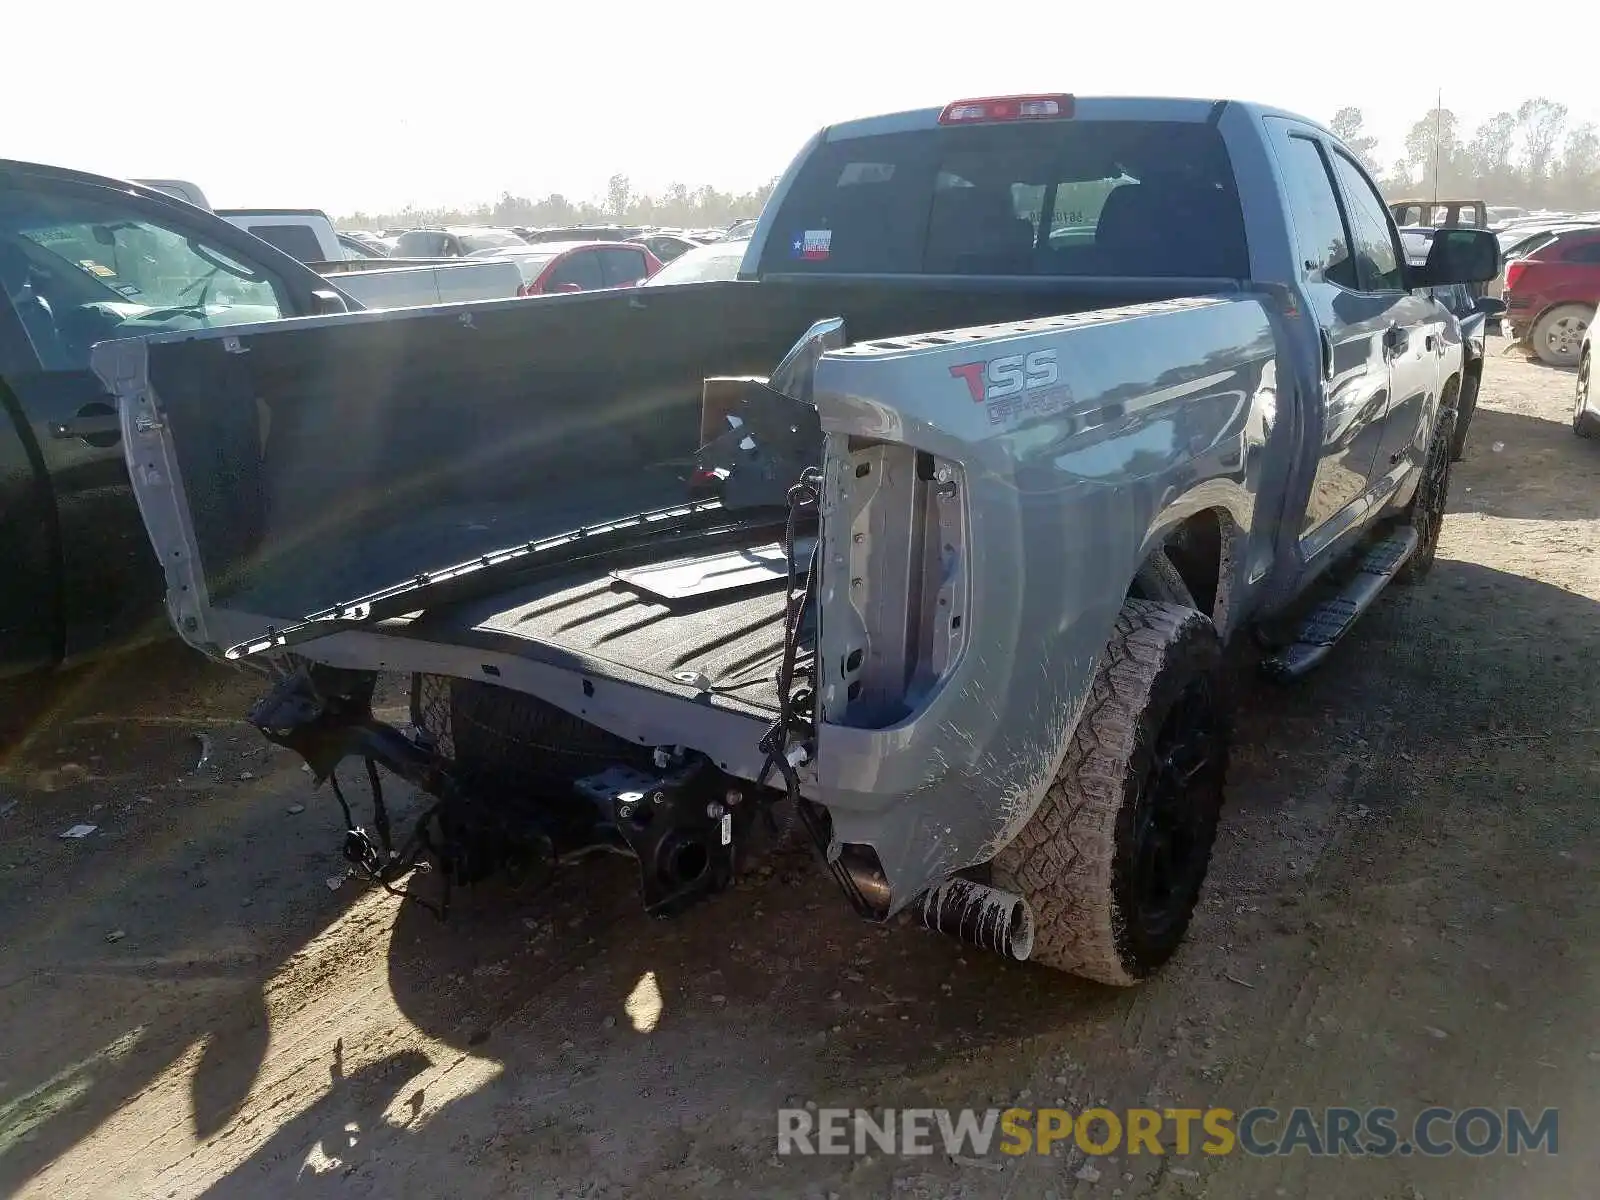
[[[171,643],[14,685],[0,754],[0,1190],[186,1054],[192,1128],[213,1136],[266,1061],[269,982],[357,899],[323,883],[331,802],[307,797],[307,776],[240,720],[258,686]],[[62,840],[74,824],[96,829]]]

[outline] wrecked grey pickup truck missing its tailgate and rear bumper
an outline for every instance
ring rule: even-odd
[[[1296,677],[1429,570],[1462,358],[1421,290],[1498,266],[1408,266],[1290,114],[1021,96],[821,131],[739,280],[94,365],[173,622],[275,675],[318,782],[365,762],[373,878],[613,848],[667,914],[803,832],[864,917],[1131,984],[1205,878],[1224,646],[1290,629]]]

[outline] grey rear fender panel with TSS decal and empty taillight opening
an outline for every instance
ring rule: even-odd
[[[1032,816],[1144,557],[1205,510],[1253,528],[1275,357],[1243,296],[821,360],[816,786],[891,910]]]

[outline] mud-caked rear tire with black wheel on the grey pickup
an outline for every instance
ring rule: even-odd
[[[990,864],[1034,910],[1034,962],[1126,987],[1178,949],[1222,811],[1221,661],[1192,608],[1117,616],[1056,781]]]

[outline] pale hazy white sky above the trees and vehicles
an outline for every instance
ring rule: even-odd
[[[0,157],[190,179],[224,206],[586,198],[614,171],[746,190],[827,122],[1019,91],[1357,104],[1386,163],[1437,88],[1467,128],[1534,94],[1600,122],[1589,0],[1555,21],[1570,37],[1477,0],[3,8]]]

